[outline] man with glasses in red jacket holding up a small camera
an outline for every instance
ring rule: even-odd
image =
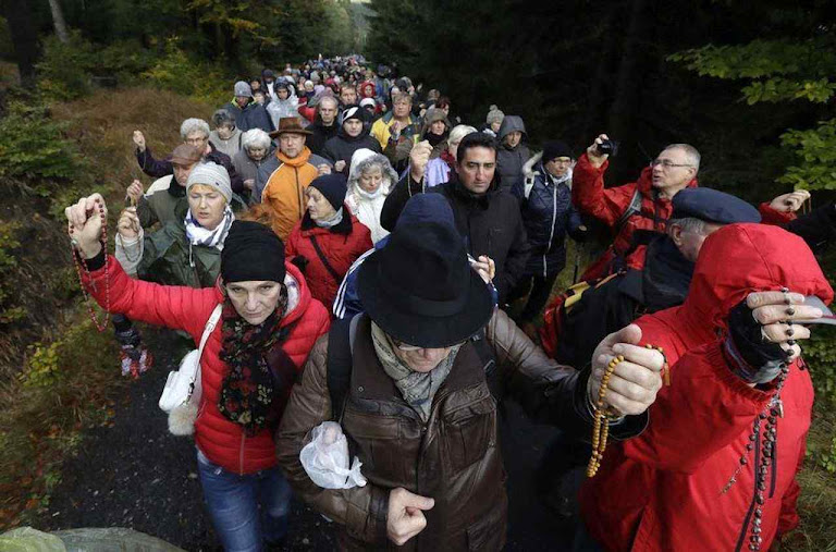
[[[571,200],[585,214],[594,217],[610,226],[614,242],[604,255],[590,266],[581,280],[592,280],[613,271],[618,256],[630,249],[636,230],[665,231],[673,211],[671,200],[680,189],[697,186],[700,170],[700,152],[688,144],[671,144],[641,171],[639,180],[604,188],[604,172],[610,165],[608,154],[601,145],[608,140],[601,134],[586,154],[580,156],[573,173]],[[636,248],[624,263],[641,269],[644,248]]]

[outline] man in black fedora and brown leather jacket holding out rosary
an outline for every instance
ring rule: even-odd
[[[296,492],[343,526],[342,549],[502,549],[507,498],[489,376],[539,420],[589,434],[591,397],[617,352],[626,360],[606,397],[626,417],[611,432],[632,437],[647,422],[664,360],[630,345],[638,328],[608,335],[591,370],[558,366],[494,308],[452,224],[398,225],[357,285],[366,314],[317,342],[276,437]],[[299,452],[328,420],[341,424],[367,484],[323,489],[308,477]]]

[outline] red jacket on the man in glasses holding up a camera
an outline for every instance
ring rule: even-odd
[[[571,201],[577,209],[592,216],[610,226],[615,232],[618,220],[624,211],[629,207],[632,196],[638,187],[641,194],[641,211],[622,225],[618,234],[615,235],[613,245],[593,262],[583,274],[581,280],[593,280],[606,275],[610,271],[612,260],[618,254],[624,254],[630,247],[632,233],[636,230],[656,230],[664,232],[667,219],[674,211],[674,206],[669,199],[654,197],[653,185],[651,183],[652,169],[646,167],[641,171],[639,180],[611,188],[604,188],[604,172],[610,165],[610,161],[604,161],[600,168],[595,168],[589,162],[586,154],[580,156],[571,174]],[[688,183],[688,187],[696,187],[697,179]],[[627,266],[641,269],[644,265],[644,247],[638,247],[628,258]]]

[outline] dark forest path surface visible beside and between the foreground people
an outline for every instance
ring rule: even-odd
[[[48,513],[33,525],[41,530],[128,527],[187,551],[220,550],[202,505],[194,441],[170,434],[157,407],[180,358],[176,338],[143,333],[157,355],[153,370],[116,405],[113,427],[84,436],[81,452],[64,464]],[[501,430],[511,506],[507,550],[567,550],[570,531],[541,507],[531,477],[555,431],[530,425],[513,404],[506,412]],[[294,501],[285,550],[335,550],[334,527]]]

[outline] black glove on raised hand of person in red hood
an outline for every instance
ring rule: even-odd
[[[727,359],[739,378],[748,383],[769,383],[787,364],[790,354],[769,341],[752,309],[740,302],[728,314],[728,335],[724,343]]]

